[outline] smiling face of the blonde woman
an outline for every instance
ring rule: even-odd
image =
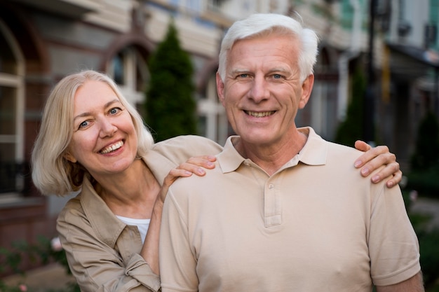
[[[137,153],[137,134],[128,110],[107,83],[86,81],[74,96],[74,132],[66,158],[97,180],[128,169]]]

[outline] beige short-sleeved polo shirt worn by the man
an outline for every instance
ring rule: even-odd
[[[400,189],[360,176],[359,151],[301,131],[306,145],[272,176],[231,137],[215,169],[171,186],[162,291],[372,291],[419,272]]]

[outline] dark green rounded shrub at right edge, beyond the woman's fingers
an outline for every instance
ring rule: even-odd
[[[439,123],[432,112],[428,112],[419,123],[416,148],[412,155],[413,170],[439,166]]]

